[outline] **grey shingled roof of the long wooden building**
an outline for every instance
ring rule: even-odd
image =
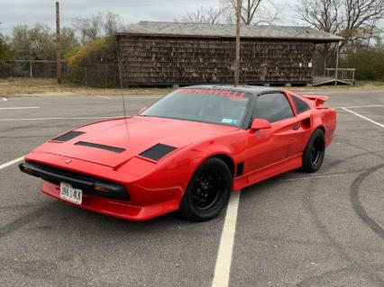
[[[233,24],[204,24],[190,22],[138,22],[128,26],[117,35],[135,34],[167,37],[234,38]],[[308,27],[242,25],[242,38],[274,40],[312,40],[314,42],[337,42],[342,37]]]

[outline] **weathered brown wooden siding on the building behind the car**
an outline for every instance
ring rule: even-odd
[[[234,40],[118,38],[123,85],[233,82]],[[311,83],[314,43],[243,40],[242,84]]]

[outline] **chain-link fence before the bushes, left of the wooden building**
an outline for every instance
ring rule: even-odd
[[[56,61],[17,60],[0,62],[0,78],[56,78],[56,76]],[[120,87],[119,67],[113,63],[70,67],[66,62],[63,62],[62,76],[64,80],[78,85]]]

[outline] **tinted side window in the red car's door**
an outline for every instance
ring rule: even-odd
[[[284,94],[261,94],[256,101],[253,118],[270,122],[293,117],[292,108]]]

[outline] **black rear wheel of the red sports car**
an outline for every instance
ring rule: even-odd
[[[303,153],[303,166],[306,173],[315,173],[323,165],[325,156],[325,135],[323,130],[315,130],[306,144]]]

